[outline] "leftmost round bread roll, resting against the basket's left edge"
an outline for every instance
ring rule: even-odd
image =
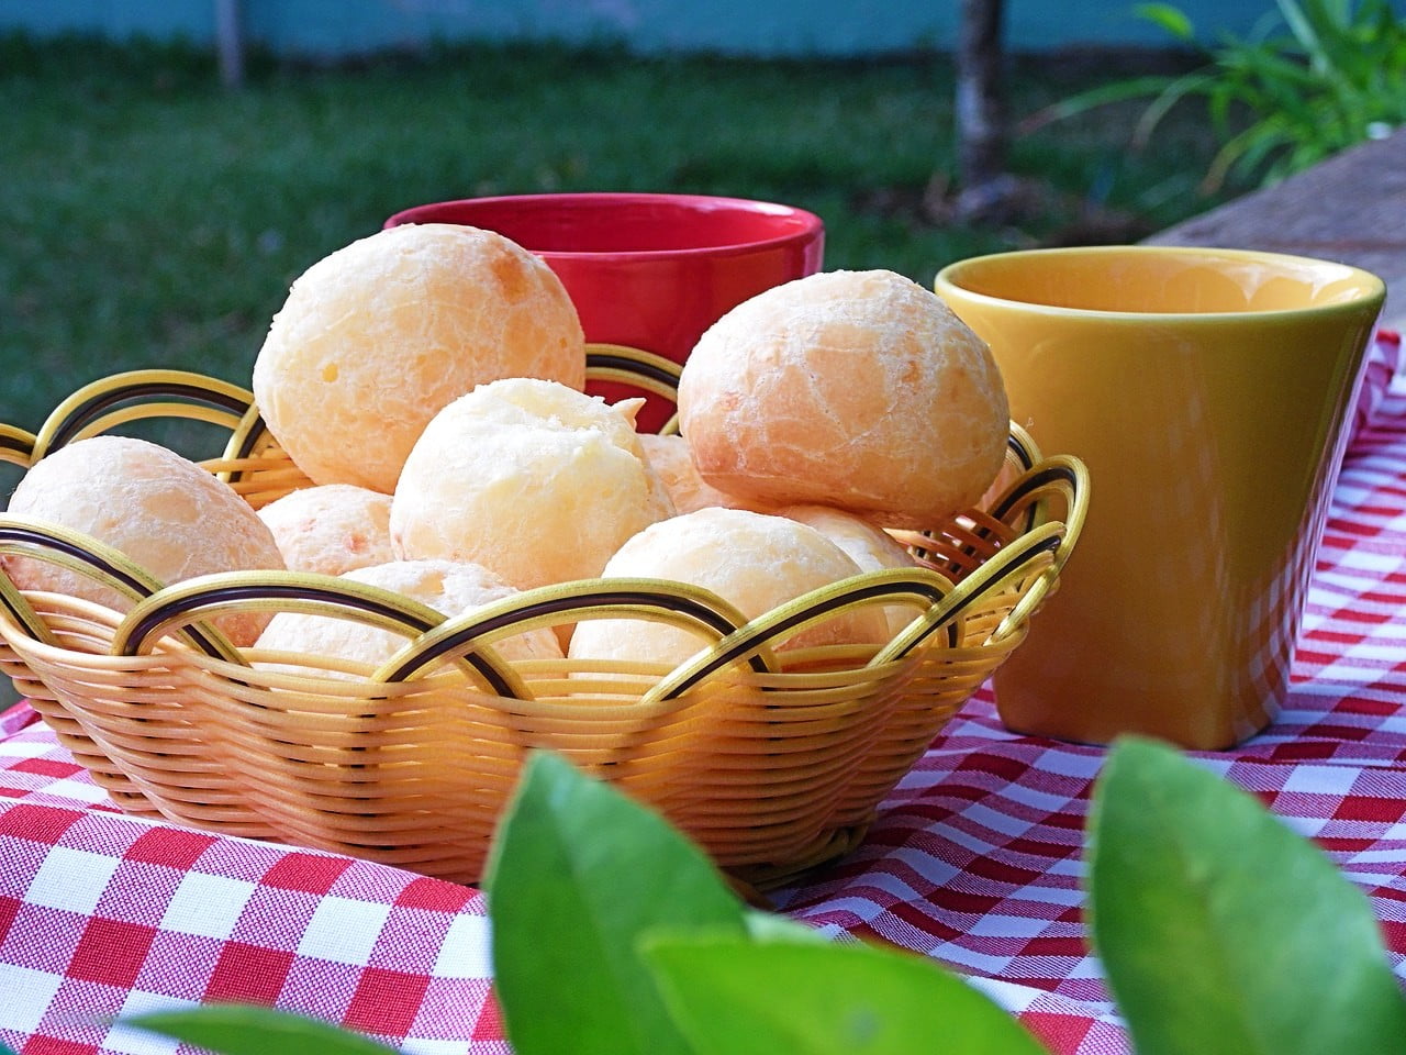
[[[93,436],[37,461],[10,499],[10,512],[83,532],[150,573],[163,585],[215,571],[283,568],[273,533],[233,488],[194,461],[129,436]],[[125,612],[132,602],[76,571],[6,557],[21,589],[84,598]],[[214,625],[247,646],[267,615],[240,612]]]

